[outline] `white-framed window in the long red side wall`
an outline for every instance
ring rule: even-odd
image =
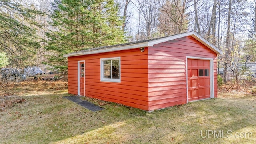
[[[100,59],[100,80],[104,82],[121,82],[120,57]]]

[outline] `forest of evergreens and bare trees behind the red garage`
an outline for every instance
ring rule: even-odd
[[[246,63],[256,61],[255,6],[256,0],[1,0],[0,68],[47,64],[66,74],[63,54],[196,31],[224,52],[224,82],[230,69],[238,84]]]

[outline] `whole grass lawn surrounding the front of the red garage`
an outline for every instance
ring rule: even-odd
[[[91,112],[63,98],[68,95],[66,90],[23,94],[25,102],[0,111],[0,143],[256,143],[256,96],[219,93],[218,99],[148,113],[86,98],[105,108]],[[234,138],[202,138],[206,130],[222,130],[223,137]],[[248,132],[250,138],[235,138]]]

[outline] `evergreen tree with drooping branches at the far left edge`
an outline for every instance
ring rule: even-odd
[[[41,14],[29,8],[21,0],[0,1],[0,52],[6,52],[12,67],[22,67],[31,63],[36,49],[34,21],[36,14]]]

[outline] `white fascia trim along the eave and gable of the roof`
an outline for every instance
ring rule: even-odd
[[[114,51],[119,51],[119,50],[129,50],[129,49],[140,48],[140,47],[149,47],[149,46],[154,46],[155,44],[159,44],[161,42],[167,42],[167,41],[182,38],[185,36],[192,36],[193,38],[195,38],[196,40],[198,40],[199,42],[201,42],[202,44],[204,44],[205,46],[210,48],[212,51],[216,52],[216,54],[223,54],[223,52],[221,50],[219,50],[216,46],[214,46],[213,44],[208,42],[206,39],[204,39],[202,36],[200,36],[196,32],[192,31],[192,32],[185,32],[182,34],[167,36],[167,37],[159,38],[157,40],[152,40],[152,41],[148,41],[148,42],[142,41],[141,43],[137,43],[137,44],[128,44],[128,45],[124,45],[124,46],[114,46],[111,48],[90,50],[87,52],[81,51],[81,52],[77,52],[77,53],[64,54],[64,57],[81,56],[81,55],[88,55],[88,54],[99,54],[99,53],[104,53],[104,52],[114,52]]]

